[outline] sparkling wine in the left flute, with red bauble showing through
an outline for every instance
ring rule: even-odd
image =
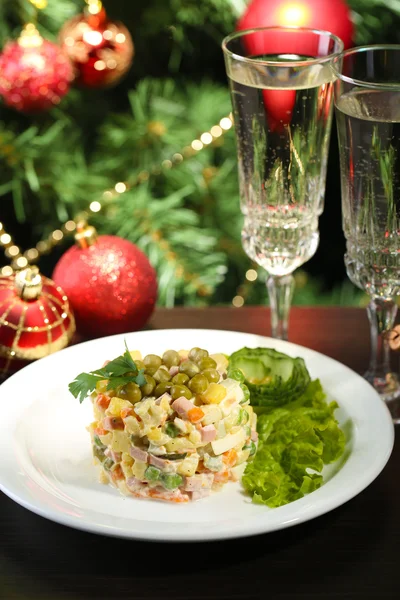
[[[298,55],[260,57],[307,61]],[[228,71],[246,253],[271,275],[308,261],[319,243],[331,128],[332,71],[265,66]]]

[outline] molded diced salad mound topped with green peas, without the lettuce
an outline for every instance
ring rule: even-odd
[[[109,389],[108,363],[91,394],[101,481],[126,495],[188,502],[240,479],[256,453],[257,417],[247,387],[227,375],[227,358],[192,348],[126,360],[132,381]]]

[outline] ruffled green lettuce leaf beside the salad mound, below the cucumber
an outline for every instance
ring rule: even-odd
[[[302,498],[323,483],[324,464],[344,451],[345,438],[320,381],[281,408],[257,407],[259,446],[242,483],[253,501],[274,508]]]

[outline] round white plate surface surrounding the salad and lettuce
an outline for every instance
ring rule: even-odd
[[[239,314],[239,313],[238,313]],[[340,405],[346,460],[324,471],[324,485],[286,506],[253,504],[240,483],[198,502],[170,505],[126,498],[98,483],[89,434],[90,401],[79,404],[67,385],[82,371],[130,349],[161,354],[192,346],[231,353],[271,346],[302,356]],[[322,354],[267,337],[216,330],[159,330],[116,335],[61,350],[19,371],[0,386],[0,489],[25,508],[94,533],[160,540],[216,540],[254,535],[307,521],[340,506],[384,468],[394,442],[385,404],[362,377]]]

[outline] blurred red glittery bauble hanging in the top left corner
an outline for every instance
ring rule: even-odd
[[[32,24],[0,54],[0,95],[8,106],[22,112],[52,108],[68,92],[73,78],[66,54],[43,39]]]

